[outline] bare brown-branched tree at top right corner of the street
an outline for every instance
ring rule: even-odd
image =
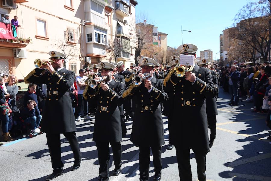
[[[263,61],[267,60],[269,51],[269,11],[270,0],[257,3],[249,2],[235,15],[236,29],[232,37],[240,40],[251,53],[259,53]],[[255,52],[254,52],[255,51]],[[255,57],[254,57],[255,58]],[[255,63],[255,59],[253,60]]]

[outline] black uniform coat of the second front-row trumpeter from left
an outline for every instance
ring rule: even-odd
[[[95,115],[93,141],[119,142],[122,141],[120,110],[118,106],[123,104],[124,84],[112,80],[109,89],[104,91],[100,84],[92,89],[87,85],[84,97],[97,108]]]

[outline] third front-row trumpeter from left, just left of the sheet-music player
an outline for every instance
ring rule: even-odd
[[[124,92],[123,97],[128,99],[136,97],[131,141],[139,146],[140,180],[147,181],[149,179],[151,147],[154,160],[154,180],[158,181],[161,179],[162,170],[161,145],[165,143],[160,102],[167,101],[168,97],[163,90],[163,81],[153,76],[156,61],[143,57],[139,59],[139,64],[142,68],[142,73],[138,74],[141,80],[144,73],[148,75],[140,85],[133,83],[139,77],[134,78]]]

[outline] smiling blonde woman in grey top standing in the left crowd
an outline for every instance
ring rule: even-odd
[[[7,91],[8,94],[5,95],[6,100],[8,103],[11,104],[11,107],[16,106],[16,94],[19,91],[19,87],[16,85],[18,82],[17,77],[15,75],[9,75],[7,80]]]

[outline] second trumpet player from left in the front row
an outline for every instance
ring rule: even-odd
[[[113,150],[114,173],[113,176],[120,174],[121,162],[121,123],[120,110],[118,106],[123,103],[124,84],[112,79],[115,65],[109,62],[100,62],[101,76],[106,76],[102,82],[97,82],[94,88],[87,85],[83,95],[89,100],[89,103],[95,104],[97,109],[95,116],[93,141],[95,141],[98,150],[99,181],[109,179],[109,143]],[[100,78],[96,77],[96,81]]]

